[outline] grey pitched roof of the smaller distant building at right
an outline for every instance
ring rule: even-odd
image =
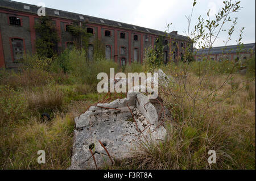
[[[222,53],[237,53],[237,50],[240,49],[240,45],[229,45],[223,47],[212,47],[209,54],[222,54]],[[255,43],[243,44],[241,52],[250,52],[253,49],[255,51]],[[196,55],[208,54],[209,48],[205,49],[194,49]]]

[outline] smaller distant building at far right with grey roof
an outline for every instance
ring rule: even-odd
[[[196,61],[203,60],[246,60],[255,53],[255,43],[240,45],[230,45],[226,47],[213,47],[210,49],[194,49],[194,57]]]

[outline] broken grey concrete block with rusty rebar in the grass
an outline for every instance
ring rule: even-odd
[[[75,118],[69,169],[96,169],[89,149],[93,152],[97,167],[102,169],[115,159],[129,158],[134,151],[138,153],[139,141],[164,140],[166,129],[160,125],[162,120],[158,119],[158,112],[147,96],[141,93],[128,93],[127,98],[90,107]]]

